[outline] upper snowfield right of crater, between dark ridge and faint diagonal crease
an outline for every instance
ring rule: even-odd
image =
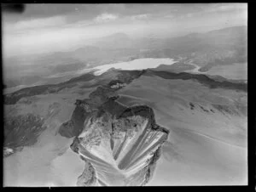
[[[172,126],[200,131],[241,146],[246,144],[246,92],[210,89],[193,80],[141,76],[120,89],[119,95],[118,100],[123,104],[153,107],[160,125],[168,120]]]

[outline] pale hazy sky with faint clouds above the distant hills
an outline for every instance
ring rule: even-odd
[[[3,55],[45,54],[78,48],[97,37],[177,37],[247,25],[247,3],[26,4],[3,13]]]

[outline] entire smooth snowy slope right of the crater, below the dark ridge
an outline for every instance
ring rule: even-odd
[[[147,104],[170,137],[149,185],[247,184],[247,92],[141,76],[119,90]]]

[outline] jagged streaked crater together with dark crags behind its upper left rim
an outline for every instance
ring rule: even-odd
[[[168,130],[155,123],[148,106],[127,108],[115,101],[118,96],[109,87],[90,95],[77,100],[72,119],[59,130],[61,136],[75,137],[71,148],[85,163],[78,185],[148,184]]]

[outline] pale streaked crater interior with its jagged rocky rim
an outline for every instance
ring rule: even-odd
[[[154,112],[148,106],[125,108],[113,102],[115,108],[122,109],[116,110],[120,114],[101,111],[84,125],[71,145],[84,157],[87,170],[78,185],[144,185],[152,178],[169,131],[155,124]]]

